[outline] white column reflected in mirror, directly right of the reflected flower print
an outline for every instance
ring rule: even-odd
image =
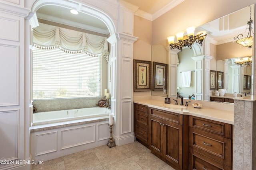
[[[178,59],[178,49],[170,49],[166,47],[168,53],[168,96],[176,97],[177,95],[177,59]]]

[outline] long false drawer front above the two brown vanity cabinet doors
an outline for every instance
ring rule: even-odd
[[[182,124],[182,115],[173,112],[165,112],[158,109],[150,108],[150,115],[154,115],[156,117],[167,119],[168,121],[172,121],[174,123]]]

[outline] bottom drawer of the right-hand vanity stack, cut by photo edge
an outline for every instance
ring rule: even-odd
[[[231,170],[230,166],[216,162],[192,149],[189,150],[189,157],[190,170]]]

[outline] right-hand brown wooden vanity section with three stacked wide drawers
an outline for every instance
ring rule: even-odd
[[[232,169],[233,125],[189,116],[189,169]]]

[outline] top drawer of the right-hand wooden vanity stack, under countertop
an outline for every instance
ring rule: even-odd
[[[231,125],[200,117],[189,117],[189,126],[231,139]]]

